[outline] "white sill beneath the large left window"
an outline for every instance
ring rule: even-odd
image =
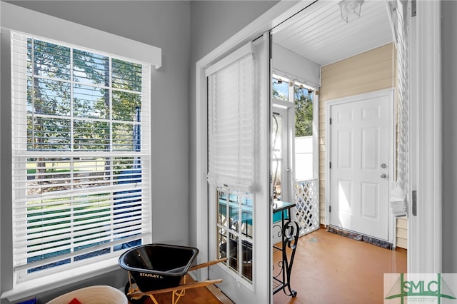
[[[39,293],[61,288],[65,285],[93,278],[96,275],[102,275],[104,273],[118,270],[119,268],[119,258],[109,258],[90,265],[80,266],[79,268],[73,268],[59,273],[44,275],[39,278],[16,283],[14,284],[13,289],[6,290],[4,293],[1,293],[0,298],[6,298],[11,302],[24,298],[30,298],[38,295]]]

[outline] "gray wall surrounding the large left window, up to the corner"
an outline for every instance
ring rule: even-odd
[[[162,49],[162,67],[151,72],[151,197],[153,241],[188,245],[189,232],[189,1],[10,1],[28,9],[91,26]],[[35,22],[35,21],[34,21]],[[4,55],[5,52],[2,52]],[[8,64],[1,63],[2,74]],[[8,74],[9,71],[6,70]],[[3,78],[3,77],[2,77]],[[2,93],[6,83],[1,83]],[[1,106],[2,132],[11,115]],[[11,112],[10,112],[11,113]],[[1,165],[11,162],[11,146],[1,146]],[[2,170],[4,166],[1,166]],[[1,171],[9,176],[11,171]],[[11,202],[11,179],[1,179],[1,203]],[[8,190],[10,189],[10,190]],[[11,223],[11,215],[2,213],[1,226]],[[2,234],[4,230],[1,229]],[[11,239],[2,236],[1,249],[11,247]],[[10,250],[8,250],[10,251]],[[1,258],[4,256],[3,250]],[[1,263],[1,285],[9,285],[11,275]],[[125,285],[126,272],[118,270],[81,285]],[[1,291],[1,290],[0,290]],[[53,290],[41,294],[41,302],[63,293]],[[2,300],[1,303],[9,303]]]

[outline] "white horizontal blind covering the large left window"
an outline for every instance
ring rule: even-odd
[[[149,240],[149,64],[11,32],[19,280]]]

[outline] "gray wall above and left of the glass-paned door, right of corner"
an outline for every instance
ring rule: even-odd
[[[196,62],[278,1],[191,1],[189,68],[189,243],[196,245]]]

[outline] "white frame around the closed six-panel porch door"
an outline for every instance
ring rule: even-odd
[[[342,98],[336,98],[326,101],[326,188],[325,188],[325,211],[326,211],[326,225],[330,225],[330,213],[327,212],[329,206],[331,205],[330,202],[330,193],[331,193],[331,169],[328,166],[328,157],[331,155],[331,124],[330,119],[331,116],[331,107],[338,106],[344,103],[352,103],[358,102],[363,99],[367,98],[378,98],[378,97],[388,97],[388,176],[389,176],[389,184],[388,184],[388,198],[390,198],[391,193],[391,182],[393,181],[393,176],[395,176],[395,153],[393,153],[393,147],[395,147],[395,121],[393,120],[394,117],[394,106],[393,106],[393,94],[394,90],[392,88],[388,88],[385,90],[380,91],[373,91],[368,93],[361,93],[353,96],[347,96]],[[392,243],[394,246],[395,244],[395,218],[391,215],[391,212],[388,212],[388,242]]]

